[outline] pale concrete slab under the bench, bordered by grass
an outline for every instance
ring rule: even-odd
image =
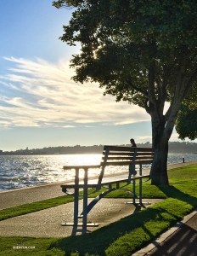
[[[103,198],[98,201],[98,204],[87,215],[87,223],[97,223],[98,227],[88,227],[88,231],[97,230],[141,210],[141,207],[125,204],[127,201],[132,201],[132,199]],[[148,201],[149,205],[145,207],[161,200]],[[82,212],[82,200],[79,203],[79,212]],[[82,235],[80,228],[76,230],[71,226],[61,225],[65,222],[73,222],[73,203],[0,221],[0,236],[65,237]]]

